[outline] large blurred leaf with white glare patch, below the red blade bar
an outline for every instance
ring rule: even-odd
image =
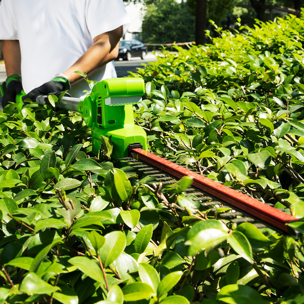
[[[188,254],[195,255],[203,250],[209,251],[226,240],[228,228],[213,219],[196,223],[189,229],[185,238]]]

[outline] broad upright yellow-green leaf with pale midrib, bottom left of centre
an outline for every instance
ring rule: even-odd
[[[105,244],[98,250],[104,267],[115,261],[126,247],[126,235],[122,231],[112,231],[105,235]]]

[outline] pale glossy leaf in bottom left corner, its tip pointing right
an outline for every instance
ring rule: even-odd
[[[22,280],[19,290],[27,293],[28,295],[51,295],[60,288],[58,286],[52,286],[43,281],[34,272],[28,273]]]

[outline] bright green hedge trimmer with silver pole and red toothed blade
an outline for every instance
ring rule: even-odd
[[[213,211],[216,218],[235,223],[259,222],[257,225],[264,223],[281,232],[294,233],[286,225],[298,220],[292,215],[147,152],[147,135],[134,124],[132,106],[141,101],[144,92],[142,78],[113,78],[97,82],[84,99],[62,97],[58,106],[84,116],[85,124],[92,128],[95,155],[102,150],[102,138],[108,137],[113,143],[112,159],[132,166],[136,174],[149,175],[161,185],[172,185],[177,182],[175,178],[183,176],[192,178],[192,188],[184,192],[194,196],[202,210]],[[49,103],[48,96],[36,101],[41,105]],[[199,209],[195,210],[196,216],[202,217]],[[193,215],[187,208],[184,211]]]

